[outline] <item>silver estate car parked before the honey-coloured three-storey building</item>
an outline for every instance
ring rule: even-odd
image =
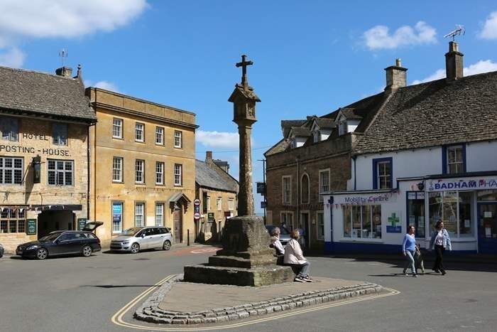
[[[168,227],[132,227],[111,240],[111,250],[132,254],[146,249],[170,250],[172,242],[173,235]]]

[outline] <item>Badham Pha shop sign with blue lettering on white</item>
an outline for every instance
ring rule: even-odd
[[[497,178],[439,178],[427,181],[427,191],[497,189]]]

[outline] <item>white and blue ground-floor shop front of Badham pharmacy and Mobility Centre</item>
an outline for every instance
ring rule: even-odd
[[[393,190],[324,196],[328,251],[400,250],[408,225],[428,248],[435,225],[442,221],[454,253],[497,252],[497,174],[398,178],[397,183]]]

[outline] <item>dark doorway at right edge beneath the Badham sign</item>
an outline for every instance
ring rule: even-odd
[[[478,203],[478,252],[497,253],[497,203]]]

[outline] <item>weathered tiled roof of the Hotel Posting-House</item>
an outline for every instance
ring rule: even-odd
[[[0,110],[96,122],[84,85],[71,77],[0,66]]]

